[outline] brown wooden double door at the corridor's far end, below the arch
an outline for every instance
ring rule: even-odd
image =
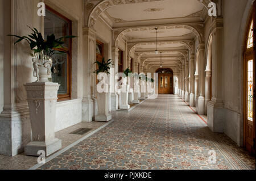
[[[173,74],[158,74],[159,94],[174,94]]]

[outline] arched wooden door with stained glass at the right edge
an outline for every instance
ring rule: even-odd
[[[254,2],[255,9],[255,2]],[[255,13],[255,11],[254,11]],[[246,150],[255,154],[255,14],[246,35],[244,52],[243,142]]]

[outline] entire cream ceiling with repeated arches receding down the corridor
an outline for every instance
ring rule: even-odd
[[[194,54],[195,40],[204,42],[204,20],[210,0],[108,0],[98,3],[91,13],[100,17],[113,30],[113,46],[121,39],[127,42],[128,57],[139,54],[137,62],[144,68],[160,65],[160,54],[155,54],[155,27],[157,49],[163,52],[165,66],[181,68]],[[183,53],[180,53],[183,52]],[[185,52],[185,53],[184,53]]]

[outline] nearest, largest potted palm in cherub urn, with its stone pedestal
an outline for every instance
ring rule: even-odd
[[[18,38],[14,44],[25,40],[30,45],[34,55],[32,58],[34,77],[38,78],[36,82],[24,85],[27,91],[32,131],[32,140],[25,146],[25,154],[38,156],[39,150],[43,150],[48,156],[61,149],[61,140],[55,138],[57,91],[60,85],[49,82],[51,58],[53,54],[61,52],[55,49],[62,47],[63,39],[75,36],[56,39],[55,35],[50,35],[47,36],[47,40],[44,40],[42,33],[36,28],[30,29],[32,33],[28,36],[9,35]]]

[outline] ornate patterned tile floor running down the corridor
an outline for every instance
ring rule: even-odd
[[[113,117],[39,169],[255,169],[254,158],[225,134],[210,132],[177,96],[159,95]]]

